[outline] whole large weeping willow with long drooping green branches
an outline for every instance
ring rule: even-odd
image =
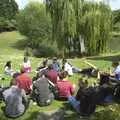
[[[84,0],[46,0],[51,13],[53,40],[59,50],[79,49],[81,40],[88,54],[106,50],[111,32],[111,9],[104,3]]]

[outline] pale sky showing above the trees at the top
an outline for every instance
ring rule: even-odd
[[[15,0],[19,6],[19,9],[23,9],[30,1],[43,1],[43,0]],[[102,1],[102,0],[94,0],[94,1]],[[104,0],[105,1],[105,0]],[[109,4],[112,10],[120,9],[120,0],[106,0],[109,1]]]

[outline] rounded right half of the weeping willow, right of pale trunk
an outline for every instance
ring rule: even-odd
[[[87,6],[87,8],[86,8]],[[111,33],[111,9],[103,3],[84,3],[82,17],[82,35],[87,53],[98,54],[106,50]]]

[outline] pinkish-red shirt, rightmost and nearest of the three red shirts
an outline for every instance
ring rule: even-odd
[[[56,87],[58,89],[60,98],[67,98],[75,91],[73,85],[68,80],[59,80]]]

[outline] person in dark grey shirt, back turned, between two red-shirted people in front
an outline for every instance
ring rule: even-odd
[[[33,83],[33,97],[39,106],[50,105],[54,99],[49,89],[49,80],[41,74]]]

